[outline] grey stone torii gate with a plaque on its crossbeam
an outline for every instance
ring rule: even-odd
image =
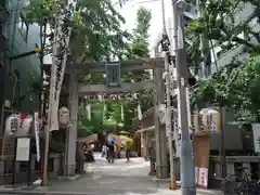
[[[74,176],[76,166],[76,141],[79,96],[93,93],[104,94],[106,92],[136,92],[144,88],[154,90],[154,105],[165,103],[165,82],[162,80],[164,58],[119,61],[119,62],[88,62],[79,66],[70,66],[69,70],[69,112],[70,126],[67,131],[65,153],[65,174]],[[121,82],[121,70],[153,69],[153,81],[147,82]],[[106,83],[80,84],[78,74],[103,73],[106,74]],[[156,127],[156,172],[158,178],[168,178],[167,141],[166,132],[159,122],[155,112]]]

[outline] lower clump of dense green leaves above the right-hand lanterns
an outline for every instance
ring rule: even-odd
[[[249,112],[248,116],[260,121],[260,55],[236,63],[232,69],[223,67],[211,78],[200,80],[192,102],[198,106],[206,103],[233,108],[238,116]]]

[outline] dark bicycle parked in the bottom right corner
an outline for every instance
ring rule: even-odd
[[[243,177],[227,176],[222,182],[222,191],[225,195],[257,195],[260,194],[260,180],[251,181],[245,167],[239,167]]]

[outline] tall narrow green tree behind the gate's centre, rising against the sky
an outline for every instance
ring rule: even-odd
[[[132,30],[132,39],[130,43],[130,58],[148,58],[148,30],[151,26],[152,13],[150,10],[141,6],[136,12],[136,23],[135,28]],[[151,80],[151,74],[145,70],[134,70],[128,73],[129,80],[134,81],[147,81]],[[143,89],[138,92],[138,99],[126,101],[125,106],[125,121],[123,125],[126,129],[132,130],[135,128],[138,114],[136,107],[140,103],[142,112],[147,110],[153,107],[152,92],[150,90]]]

